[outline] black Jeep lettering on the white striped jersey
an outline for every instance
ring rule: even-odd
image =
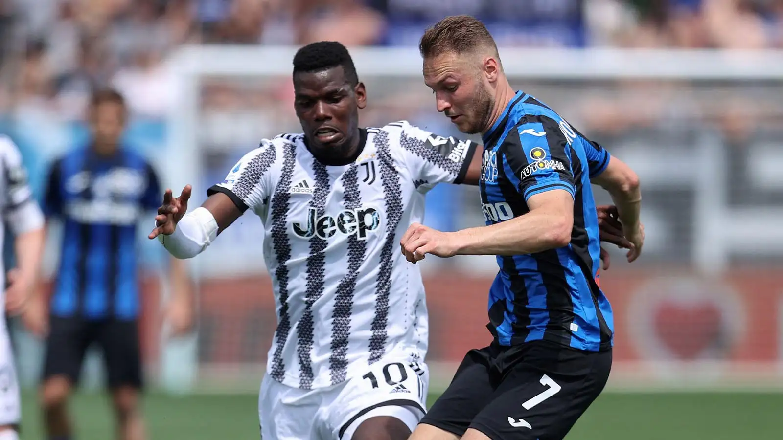
[[[294,222],[291,227],[294,233],[301,238],[310,238],[313,235],[323,240],[334,236],[337,232],[345,235],[356,234],[356,238],[364,240],[367,233],[378,229],[381,225],[381,215],[372,207],[364,209],[352,209],[340,211],[337,217],[323,215],[318,217],[318,210],[314,207],[307,209],[307,223]]]

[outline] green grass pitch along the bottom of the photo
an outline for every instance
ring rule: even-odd
[[[431,395],[432,402],[437,396]],[[151,440],[258,439],[256,395],[146,395]],[[78,394],[70,406],[76,438],[114,438],[101,394]],[[604,393],[568,440],[779,440],[783,394]],[[21,438],[45,440],[34,395],[23,396]]]

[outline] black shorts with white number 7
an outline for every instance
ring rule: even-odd
[[[493,440],[559,440],[601,394],[611,368],[611,349],[493,343],[467,352],[420,423],[460,436],[473,428]]]

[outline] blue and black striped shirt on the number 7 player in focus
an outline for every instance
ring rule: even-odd
[[[601,243],[590,178],[609,153],[548,106],[517,92],[484,135],[482,208],[487,225],[525,215],[527,200],[553,189],[574,198],[566,247],[499,256],[489,290],[489,330],[502,345],[552,341],[598,351],[612,346],[612,306],[598,287]]]

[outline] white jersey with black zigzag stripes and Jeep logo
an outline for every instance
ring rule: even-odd
[[[460,183],[476,144],[406,121],[362,130],[351,164],[326,166],[304,135],[265,139],[207,194],[262,219],[277,328],[267,373],[303,389],[341,383],[388,352],[424,358],[419,267],[399,249],[424,218],[424,194]]]

